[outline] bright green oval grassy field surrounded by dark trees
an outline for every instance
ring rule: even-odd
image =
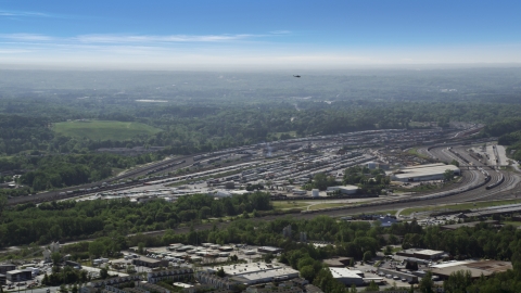
[[[131,122],[75,120],[56,123],[53,130],[69,137],[91,140],[129,140],[138,135],[155,135],[161,129]]]

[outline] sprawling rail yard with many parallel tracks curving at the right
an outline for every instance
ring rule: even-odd
[[[208,193],[215,190],[236,186],[269,184],[267,191],[276,195],[281,190],[289,200],[305,200],[306,195],[290,194],[288,181],[301,186],[318,173],[342,178],[343,169],[350,166],[367,164],[372,160],[382,160],[376,152],[385,149],[406,150],[415,143],[430,144],[418,148],[422,157],[433,162],[457,161],[461,168],[459,181],[429,192],[415,192],[406,195],[380,196],[361,204],[340,205],[334,208],[302,211],[295,217],[314,217],[317,214],[342,216],[377,211],[399,209],[406,207],[490,201],[517,198],[517,188],[521,182],[520,175],[501,169],[503,163],[496,146],[469,144],[461,130],[454,135],[440,130],[409,132],[406,130],[361,131],[339,136],[320,136],[304,139],[292,139],[270,144],[256,144],[219,152],[177,156],[149,166],[130,170],[106,182],[97,182],[81,188],[69,188],[61,191],[40,193],[33,196],[10,199],[10,204],[24,202],[45,202],[69,198],[90,196],[150,196],[154,191],[158,196],[181,196],[193,193]],[[436,140],[432,140],[432,137]],[[419,141],[418,138],[424,138]],[[431,140],[427,140],[430,138]],[[453,138],[447,143],[447,138]],[[389,143],[392,141],[393,143]],[[441,142],[443,141],[443,142]],[[475,142],[475,141],[474,141]],[[479,141],[483,143],[483,141]],[[347,150],[345,148],[352,145]],[[354,146],[358,148],[354,148]],[[480,149],[481,148],[481,149]],[[487,151],[488,149],[488,151]],[[491,152],[492,151],[492,152]],[[405,152],[405,151],[404,151]],[[402,153],[401,153],[402,155]],[[178,170],[183,169],[181,175]],[[230,184],[233,183],[233,184]],[[276,187],[276,188],[272,188]],[[239,188],[237,188],[239,189]],[[305,193],[305,192],[304,192]],[[166,194],[166,195],[165,195]],[[236,194],[236,193],[231,193]],[[229,195],[229,194],[226,194]],[[294,196],[294,198],[292,198]],[[310,199],[310,196],[307,196]],[[328,200],[320,196],[321,200]],[[267,217],[269,219],[271,216]]]

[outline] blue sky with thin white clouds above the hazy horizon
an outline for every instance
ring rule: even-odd
[[[0,64],[519,64],[520,11],[514,0],[0,0]]]

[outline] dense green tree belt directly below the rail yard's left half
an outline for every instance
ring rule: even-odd
[[[0,246],[162,230],[209,217],[249,217],[270,209],[269,195],[259,192],[219,201],[199,194],[174,203],[154,200],[138,204],[122,199],[26,204],[0,214]]]

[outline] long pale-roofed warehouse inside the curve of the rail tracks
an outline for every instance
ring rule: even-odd
[[[439,163],[401,168],[399,170],[393,173],[391,180],[402,182],[443,180],[443,174],[447,169],[452,170],[454,175],[461,174],[460,169],[454,165]]]

